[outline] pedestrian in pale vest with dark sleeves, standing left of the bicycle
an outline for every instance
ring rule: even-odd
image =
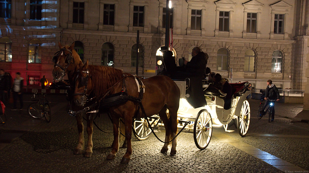
[[[13,99],[14,99],[14,104],[13,104],[13,109],[12,111],[17,110],[17,99],[19,99],[20,102],[20,109],[23,109],[23,78],[20,77],[20,73],[16,73],[16,78],[14,79],[14,86],[13,86]]]

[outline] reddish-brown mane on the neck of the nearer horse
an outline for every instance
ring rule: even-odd
[[[107,89],[123,78],[123,72],[119,69],[106,66],[88,66],[91,75],[93,93],[97,98],[102,97]]]

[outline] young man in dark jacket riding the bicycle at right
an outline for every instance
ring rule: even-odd
[[[260,111],[260,117],[265,115],[265,108],[268,104],[270,104],[270,100],[276,100],[277,102],[279,101],[280,95],[277,87],[273,84],[272,80],[267,80],[267,87],[265,90],[265,104],[262,107]],[[272,106],[272,115],[271,115],[271,121],[275,118],[275,105]]]

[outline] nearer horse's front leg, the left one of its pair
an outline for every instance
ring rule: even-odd
[[[119,150],[119,118],[112,115],[112,123],[114,126],[114,141],[112,144],[112,151],[107,156],[107,159],[115,159],[116,153]]]

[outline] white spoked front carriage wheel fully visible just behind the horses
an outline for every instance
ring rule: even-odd
[[[204,150],[211,139],[212,120],[210,113],[206,109],[198,112],[194,122],[193,136],[197,148]]]

